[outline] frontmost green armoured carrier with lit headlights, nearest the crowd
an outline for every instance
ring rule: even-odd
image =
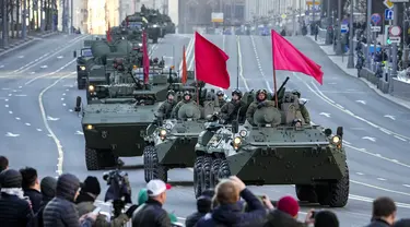
[[[284,89],[282,89],[283,92]],[[349,198],[349,168],[343,129],[305,124],[297,96],[283,92],[280,109],[262,107],[256,126],[218,122],[208,126],[196,145],[196,196],[218,179],[237,176],[246,184],[295,184],[301,201],[342,207]],[[254,97],[245,94],[244,97]]]

